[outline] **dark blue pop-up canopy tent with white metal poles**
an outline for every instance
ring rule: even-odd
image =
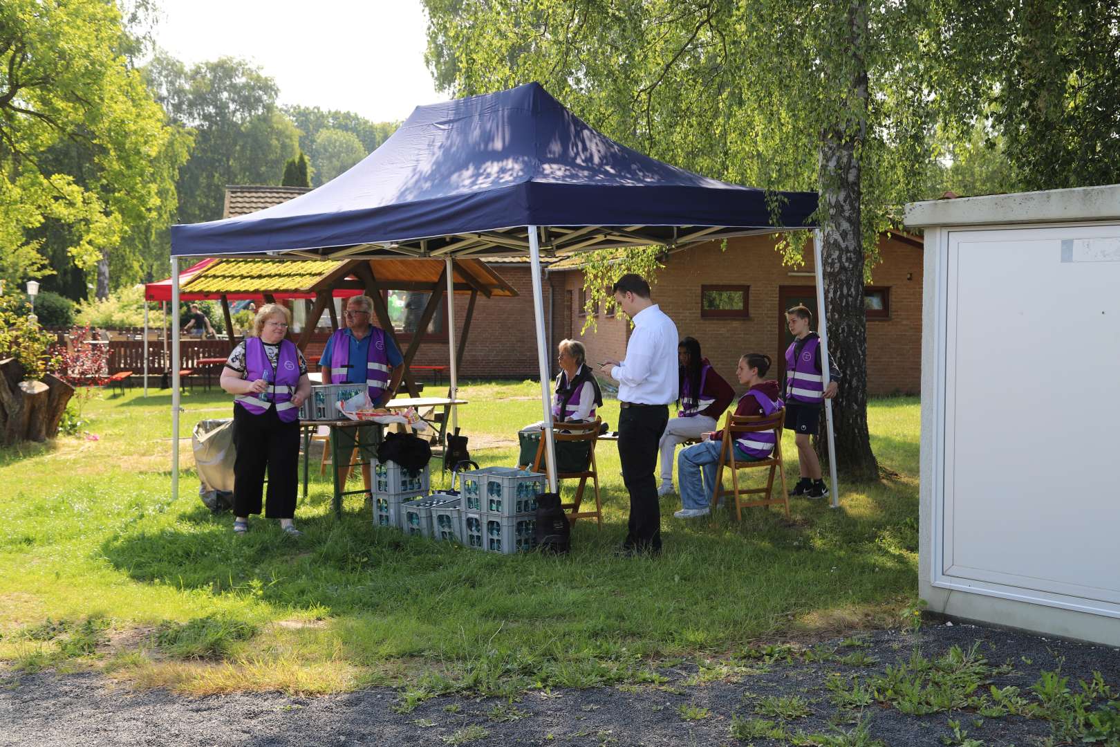
[[[528,253],[541,401],[544,420],[551,422],[541,253],[673,248],[813,230],[815,211],[815,193],[727,184],[625,148],[588,127],[540,84],[529,83],[418,106],[360,164],[286,203],[224,221],[172,226],[171,277],[178,278],[180,256],[442,258],[450,277],[454,258]],[[820,241],[815,243],[819,252]],[[818,276],[820,267],[818,261]],[[820,288],[818,277],[819,296]],[[823,302],[819,308],[823,311]],[[448,326],[454,335],[454,324]],[[454,349],[454,339],[451,344]],[[450,373],[454,398],[454,355]],[[172,392],[177,420],[177,384]],[[177,423],[175,429],[177,435]],[[549,482],[556,489],[551,431],[545,436]],[[172,459],[177,468],[177,454]],[[177,491],[175,480],[172,485]]]

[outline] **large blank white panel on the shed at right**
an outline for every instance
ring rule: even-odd
[[[943,571],[1120,603],[1120,226],[952,232]]]

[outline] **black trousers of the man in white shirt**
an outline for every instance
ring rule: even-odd
[[[661,506],[657,503],[657,442],[669,422],[669,405],[623,408],[618,417],[618,457],[623,483],[631,495],[627,548],[661,550]]]

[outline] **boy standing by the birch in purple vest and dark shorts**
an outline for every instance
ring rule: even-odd
[[[785,428],[792,430],[797,445],[797,466],[801,479],[790,491],[790,495],[823,498],[828,494],[821,479],[821,463],[810,442],[816,432],[821,418],[821,404],[837,394],[840,372],[829,355],[829,385],[824,386],[821,367],[821,338],[810,327],[813,312],[804,306],[795,306],[785,312],[786,326],[794,340],[785,351]]]

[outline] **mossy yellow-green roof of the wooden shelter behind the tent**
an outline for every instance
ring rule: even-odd
[[[334,290],[336,296],[355,296],[365,288],[356,278],[358,267],[366,264],[377,284],[385,289],[417,290],[430,288],[439,280],[445,263],[441,260],[290,261],[261,259],[220,259],[187,280],[184,293],[298,293],[310,297]],[[517,291],[500,274],[478,260],[455,263],[457,292],[477,290],[484,296],[516,296]],[[343,291],[343,292],[339,292]]]

